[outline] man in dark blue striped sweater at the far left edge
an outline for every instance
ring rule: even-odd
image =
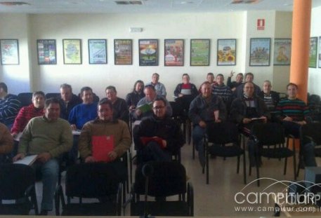
[[[0,122],[10,130],[21,103],[16,95],[8,94],[6,83],[0,83]]]

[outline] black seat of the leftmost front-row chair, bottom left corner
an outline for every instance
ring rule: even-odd
[[[32,203],[0,204],[1,215],[29,215]]]

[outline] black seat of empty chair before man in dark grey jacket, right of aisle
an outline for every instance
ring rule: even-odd
[[[240,156],[244,153],[243,149],[237,145],[232,146],[221,146],[214,144],[209,147],[209,154],[214,156],[221,156],[221,157],[235,157]]]

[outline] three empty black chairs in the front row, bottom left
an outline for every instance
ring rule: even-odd
[[[80,163],[66,172],[65,193],[58,185],[55,191],[56,215],[122,215],[126,172],[122,163]],[[131,215],[148,212],[157,216],[193,216],[194,196],[192,184],[187,182],[185,168],[177,161],[150,162],[152,171],[146,179],[140,165],[131,188]],[[34,170],[28,165],[8,164],[0,168],[0,214],[38,213]],[[148,182],[148,190],[145,189]],[[147,191],[147,192],[146,192]],[[140,200],[145,193],[156,201]],[[166,197],[178,196],[177,200]],[[89,200],[96,198],[98,200]],[[65,200],[67,199],[67,200]],[[15,200],[14,203],[2,203]],[[61,207],[60,207],[61,206]],[[60,212],[60,208],[62,208]]]

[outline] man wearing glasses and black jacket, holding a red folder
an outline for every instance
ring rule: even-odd
[[[139,163],[171,161],[185,143],[181,128],[166,114],[166,109],[166,101],[156,98],[152,102],[153,115],[144,118],[133,133]]]

